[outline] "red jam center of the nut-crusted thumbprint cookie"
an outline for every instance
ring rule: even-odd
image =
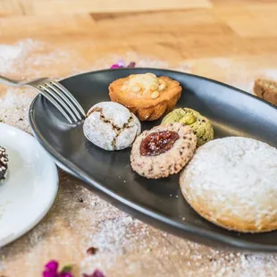
[[[151,133],[140,144],[140,155],[160,155],[172,148],[179,135],[175,131],[163,130]]]

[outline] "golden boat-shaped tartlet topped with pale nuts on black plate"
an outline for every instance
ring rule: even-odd
[[[170,112],[180,99],[180,93],[177,80],[153,73],[132,74],[114,80],[109,86],[111,100],[128,107],[142,122],[155,121]]]

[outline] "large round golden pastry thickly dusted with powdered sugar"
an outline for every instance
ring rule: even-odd
[[[228,230],[277,229],[277,149],[255,139],[214,139],[180,173],[180,189],[206,220]]]

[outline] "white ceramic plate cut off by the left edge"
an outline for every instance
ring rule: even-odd
[[[53,159],[29,134],[0,123],[0,146],[9,155],[0,183],[0,248],[34,227],[53,205],[58,173]]]

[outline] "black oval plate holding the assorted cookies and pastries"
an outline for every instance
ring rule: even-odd
[[[179,80],[183,88],[177,106],[196,109],[214,125],[216,138],[245,136],[277,147],[277,109],[237,88],[178,71],[120,69],[94,71],[62,80],[86,111],[109,101],[108,85],[130,74],[153,72]],[[181,196],[178,178],[147,180],[130,169],[130,149],[108,152],[83,136],[82,123],[71,126],[44,97],[29,110],[34,135],[66,172],[129,214],[165,231],[213,247],[277,252],[277,231],[239,234],[226,231],[197,215]],[[145,122],[150,129],[156,122]],[[277,181],[277,180],[276,180]]]

